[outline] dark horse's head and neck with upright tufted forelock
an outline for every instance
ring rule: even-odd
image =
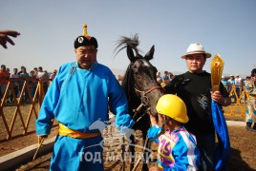
[[[139,45],[138,35],[133,38],[122,37],[117,47],[124,44],[131,63],[126,70],[122,87],[126,91],[129,105],[137,108],[142,103],[155,116],[157,114],[156,104],[160,96],[163,95],[162,88],[157,83],[158,70],[150,63],[155,47],[151,47],[144,56],[141,56],[137,48]]]

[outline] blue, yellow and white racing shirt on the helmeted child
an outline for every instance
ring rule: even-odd
[[[183,126],[159,138],[158,163],[164,170],[197,170],[200,151],[196,138]]]

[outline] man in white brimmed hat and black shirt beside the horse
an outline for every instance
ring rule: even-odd
[[[211,75],[203,70],[207,58],[203,45],[191,44],[181,56],[185,60],[188,71],[177,75],[167,93],[177,94],[187,106],[189,117],[186,129],[194,134],[201,152],[202,166],[200,170],[215,169],[215,127],[212,121],[211,100],[223,106],[231,104],[228,92],[221,83],[220,91],[211,92]]]

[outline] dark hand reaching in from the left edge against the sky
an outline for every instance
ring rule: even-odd
[[[20,35],[20,33],[15,30],[0,30],[0,45],[7,48],[7,43],[9,42],[14,46],[15,44],[9,36],[17,37],[18,35]]]

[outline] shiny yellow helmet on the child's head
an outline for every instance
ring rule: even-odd
[[[180,123],[187,123],[189,120],[184,102],[176,95],[165,94],[161,96],[156,108],[160,114],[166,115]]]

